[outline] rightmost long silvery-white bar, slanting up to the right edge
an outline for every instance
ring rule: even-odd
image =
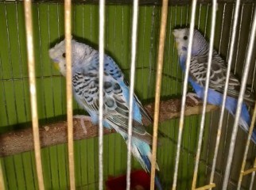
[[[252,51],[253,51],[253,47],[254,47],[255,32],[256,32],[256,10],[254,11],[254,23],[252,26],[251,36],[250,36],[250,40],[249,40],[248,53],[246,56],[246,65],[245,65],[242,83],[241,83],[242,85],[241,85],[241,89],[240,89],[240,93],[239,93],[239,101],[238,101],[237,110],[235,113],[235,124],[233,127],[232,136],[231,136],[231,145],[230,145],[230,149],[229,149],[228,156],[227,156],[227,167],[226,167],[224,181],[223,181],[223,190],[227,189],[228,179],[229,179],[230,172],[231,172],[231,162],[233,159],[233,154],[234,154],[234,149],[235,149],[235,140],[236,140],[236,135],[237,135],[238,127],[239,127],[239,117],[241,114],[242,101],[243,101],[243,96],[244,96],[244,92],[246,89],[246,81],[247,81],[248,72],[250,69],[250,59],[251,59],[251,55],[252,55]]]

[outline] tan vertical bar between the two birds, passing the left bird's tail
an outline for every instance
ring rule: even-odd
[[[161,75],[164,63],[164,52],[165,52],[165,31],[166,22],[168,15],[168,0],[163,0],[161,8],[161,28],[159,36],[159,47],[158,47],[158,58],[157,58],[157,82],[156,82],[156,93],[155,93],[155,111],[153,115],[153,150],[151,159],[151,179],[150,179],[150,190],[154,189],[154,179],[156,171],[156,158],[157,158],[157,129],[159,119],[159,105],[160,105],[160,93],[161,93]]]

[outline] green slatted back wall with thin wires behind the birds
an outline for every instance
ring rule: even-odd
[[[105,53],[111,55],[130,78],[130,32],[132,28],[132,5],[126,1],[107,4],[105,9]],[[66,120],[65,79],[52,66],[48,49],[64,39],[64,4],[61,2],[33,2],[33,38],[37,79],[37,105],[39,124],[48,130],[48,125]],[[211,33],[211,3],[198,2],[196,6],[196,28],[209,39]],[[162,73],[161,100],[181,99],[184,74],[178,63],[173,28],[189,27],[191,4],[170,1],[165,37],[165,59]],[[246,52],[250,40],[255,4],[242,1],[235,40],[231,70],[242,78]],[[158,38],[161,21],[161,6],[141,5],[138,15],[138,44],[135,72],[135,93],[143,105],[152,102],[155,93]],[[234,23],[235,2],[221,1],[218,4],[215,25],[214,48],[228,58],[231,44],[231,28]],[[23,3],[18,1],[0,2],[0,130],[3,135],[31,126],[29,103],[29,75],[27,68],[25,17]],[[99,5],[75,2],[72,4],[72,35],[74,39],[99,49]],[[255,45],[254,45],[255,46]],[[255,47],[254,47],[255,51]],[[253,51],[253,52],[254,52]],[[247,84],[255,89],[255,56],[253,53]],[[192,92],[192,87],[188,86]],[[73,101],[74,115],[84,114]],[[203,145],[200,155],[196,187],[208,184],[212,158],[215,150],[215,136],[219,121],[219,109],[208,112],[204,126]],[[216,162],[215,189],[221,189],[227,165],[227,155],[234,124],[233,116],[225,112],[223,130]],[[157,146],[159,177],[163,188],[171,188],[175,166],[179,119],[167,120],[159,125],[165,134]],[[200,130],[200,115],[184,118],[184,131],[180,148],[180,163],[176,189],[190,189],[195,165],[196,148]],[[52,141],[57,141],[56,136]],[[151,127],[148,127],[151,130]],[[228,189],[238,185],[243,152],[247,134],[239,128]],[[0,141],[2,139],[0,138]],[[74,142],[76,188],[98,189],[99,160],[98,137]],[[121,135],[103,135],[103,180],[110,176],[126,173],[126,143]],[[32,142],[31,142],[32,143]],[[41,142],[42,143],[42,142]],[[8,145],[10,148],[12,145]],[[24,144],[26,146],[26,144]],[[3,150],[4,147],[2,147]],[[255,146],[250,142],[246,158],[246,169],[254,166]],[[1,154],[2,173],[6,189],[37,189],[37,172],[33,151],[19,154]],[[43,175],[46,189],[66,189],[69,184],[68,149],[65,143],[41,149]],[[140,169],[138,161],[132,158],[132,169]],[[241,189],[254,189],[256,184],[251,175],[242,179]],[[251,184],[252,181],[252,185]],[[105,184],[104,184],[105,185]],[[105,187],[106,188],[106,187]]]

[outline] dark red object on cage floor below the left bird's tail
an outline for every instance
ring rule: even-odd
[[[107,190],[126,190],[126,175],[120,177],[109,177],[106,181]],[[131,190],[150,189],[150,176],[144,170],[137,170],[130,173]]]

